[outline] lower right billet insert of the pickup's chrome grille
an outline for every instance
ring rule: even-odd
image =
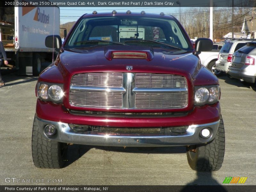
[[[184,108],[188,103],[186,92],[136,93],[136,108]]]

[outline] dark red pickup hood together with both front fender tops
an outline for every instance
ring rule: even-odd
[[[144,59],[113,58],[117,53],[147,53]],[[166,73],[187,77],[191,84],[218,84],[218,78],[200,64],[198,56],[184,50],[165,50],[146,46],[109,45],[90,49],[61,50],[55,62],[44,70],[39,81],[64,83],[83,72]]]

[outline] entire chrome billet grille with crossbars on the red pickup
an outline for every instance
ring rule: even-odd
[[[105,109],[185,108],[188,84],[179,75],[79,73],[71,79],[69,103],[75,107]]]

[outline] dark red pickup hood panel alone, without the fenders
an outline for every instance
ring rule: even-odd
[[[112,52],[147,53],[144,59],[113,58]],[[164,50],[145,46],[110,45],[92,49],[64,50],[60,63],[70,74],[93,71],[123,71],[132,66],[131,72],[164,72],[192,74],[198,65],[198,58],[187,51]]]

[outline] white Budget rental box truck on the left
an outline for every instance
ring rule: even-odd
[[[18,1],[15,0],[16,5]],[[45,37],[60,35],[60,9],[6,5],[0,2],[0,40],[8,62],[19,75],[38,75],[42,64],[52,62],[53,50],[44,44]],[[54,50],[55,51],[55,50]],[[1,69],[11,69],[1,61]]]

